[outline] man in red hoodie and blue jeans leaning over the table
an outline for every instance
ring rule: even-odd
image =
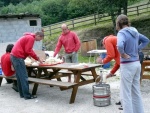
[[[33,51],[33,45],[35,41],[40,41],[44,38],[43,32],[25,33],[14,45],[11,51],[11,61],[16,71],[18,90],[21,98],[33,99],[33,96],[29,93],[28,74],[25,66],[24,59],[28,56],[42,63],[40,58]]]

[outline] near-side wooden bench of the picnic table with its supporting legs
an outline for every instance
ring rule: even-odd
[[[1,86],[3,78],[6,78],[6,77],[3,75],[0,75],[0,86]],[[16,77],[8,78],[8,79],[17,80]],[[60,88],[72,88],[72,94],[71,94],[69,103],[71,104],[71,103],[74,103],[74,101],[75,101],[75,96],[77,93],[77,83],[46,80],[46,79],[32,78],[32,77],[28,77],[28,81],[34,83],[32,95],[36,95],[39,84],[58,86]]]

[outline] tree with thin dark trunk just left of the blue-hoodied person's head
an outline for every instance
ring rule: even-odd
[[[137,0],[92,0],[93,6],[95,8],[95,12],[98,13],[107,13],[111,16],[114,33],[116,34],[116,17],[123,14],[127,15],[127,6],[129,1],[137,1]]]

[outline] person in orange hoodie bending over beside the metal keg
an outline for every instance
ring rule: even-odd
[[[101,63],[101,64],[106,64],[110,61],[112,61],[113,59],[115,60],[115,64],[113,66],[113,68],[111,69],[110,73],[106,76],[106,78],[109,77],[113,77],[115,72],[119,69],[120,67],[120,54],[117,50],[117,37],[114,35],[109,35],[106,36],[103,40],[102,40],[102,46],[107,50],[107,55],[104,59],[102,59],[101,57],[98,57],[96,59],[97,63]]]

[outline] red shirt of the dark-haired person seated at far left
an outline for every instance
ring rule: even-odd
[[[15,71],[11,70],[11,60],[10,60],[10,53],[5,53],[1,57],[1,68],[5,76],[12,76],[15,74]]]

